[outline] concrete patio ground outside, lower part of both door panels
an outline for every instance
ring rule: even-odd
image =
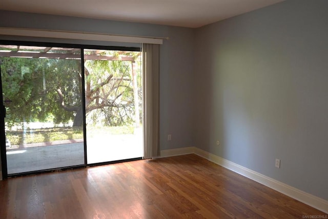
[[[57,169],[84,164],[84,142],[29,144],[7,150],[8,174]],[[142,135],[124,134],[87,138],[88,164],[142,157]]]

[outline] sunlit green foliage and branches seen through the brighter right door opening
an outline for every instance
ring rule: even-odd
[[[101,55],[119,57],[119,52],[106,51],[101,53]],[[129,52],[125,53],[125,55],[135,59],[140,53]],[[87,60],[85,67],[89,71],[86,78],[86,86],[89,85],[93,89],[97,89],[96,95],[99,96],[99,98],[91,101],[88,107],[105,105],[104,107],[88,111],[87,123],[101,123],[105,126],[132,125],[135,122],[133,118],[135,109],[131,61]],[[112,76],[109,83],[101,86],[109,76]]]

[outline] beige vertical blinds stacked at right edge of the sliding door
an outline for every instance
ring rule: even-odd
[[[159,149],[159,45],[142,44],[144,94],[144,158],[160,155]]]

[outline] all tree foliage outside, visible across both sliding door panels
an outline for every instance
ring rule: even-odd
[[[139,52],[103,51],[100,54],[117,59],[123,54],[137,60],[137,83],[141,87]],[[131,63],[121,60],[85,61],[88,123],[123,126],[135,122]],[[76,109],[82,105],[83,94],[80,60],[0,57],[0,65],[3,96],[12,101],[5,104],[7,127],[22,122],[67,124],[77,117]],[[25,69],[23,73],[26,71],[24,74],[22,67]],[[65,107],[59,103],[58,89],[63,94]],[[141,94],[141,90],[138,93]],[[141,96],[138,102],[141,106]]]

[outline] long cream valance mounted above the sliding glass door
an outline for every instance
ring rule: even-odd
[[[169,37],[152,37],[152,36],[132,36],[106,33],[77,32],[64,30],[42,30],[42,29],[25,29],[25,28],[7,28],[0,27],[0,35],[15,36],[32,36],[61,39],[84,39],[89,41],[111,41],[122,43],[148,43],[163,44],[163,39]]]

